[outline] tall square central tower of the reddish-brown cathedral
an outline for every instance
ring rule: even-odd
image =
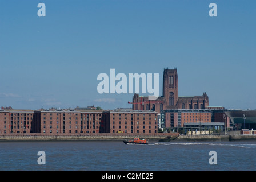
[[[163,97],[165,98],[165,109],[178,108],[178,73],[177,68],[164,69],[163,71]]]

